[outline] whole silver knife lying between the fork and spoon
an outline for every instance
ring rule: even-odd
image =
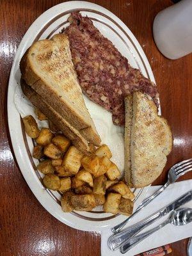
[[[117,250],[118,248],[120,248],[120,246],[126,244],[129,239],[138,234],[138,232],[143,230],[143,228],[148,227],[148,225],[154,223],[154,221],[159,220],[161,217],[168,214],[168,212],[172,212],[173,210],[179,208],[183,204],[186,204],[190,200],[192,200],[192,189],[189,190],[188,193],[180,196],[175,201],[166,205],[166,207],[163,207],[161,210],[155,212],[144,220],[128,228],[125,228],[125,230],[123,230],[122,232],[110,236],[108,239],[109,248],[112,251]]]

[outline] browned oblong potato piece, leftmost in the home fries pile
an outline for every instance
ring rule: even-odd
[[[37,138],[40,134],[40,131],[38,129],[38,125],[36,124],[35,118],[29,115],[22,118],[22,121],[24,123],[26,134],[28,134],[28,136],[33,139]]]

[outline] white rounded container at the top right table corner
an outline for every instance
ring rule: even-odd
[[[166,58],[175,60],[192,52],[192,0],[182,0],[159,12],[153,33]]]

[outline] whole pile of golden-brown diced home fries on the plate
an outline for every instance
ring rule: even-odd
[[[38,118],[46,117],[36,111]],[[110,161],[111,151],[102,145],[92,156],[84,156],[62,134],[54,134],[48,128],[38,129],[35,118],[23,118],[26,133],[35,138],[33,157],[40,161],[37,170],[44,173],[44,185],[63,193],[61,207],[64,212],[91,211],[97,205],[113,214],[132,213],[134,194],[122,181],[120,171]]]

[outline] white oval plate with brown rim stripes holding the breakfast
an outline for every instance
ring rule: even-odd
[[[22,92],[19,86],[17,86],[20,83],[20,58],[22,58],[26,49],[33,42],[51,38],[55,33],[59,33],[64,26],[68,26],[67,18],[75,10],[80,10],[82,15],[88,15],[100,32],[109,38],[115,44],[116,48],[129,60],[132,67],[139,68],[144,76],[155,83],[152,70],[140,44],[118,17],[97,4],[83,1],[61,3],[40,15],[33,22],[20,42],[15,60],[13,61],[8,86],[8,124],[13,150],[20,170],[40,204],[52,216],[70,227],[80,230],[101,231],[104,228],[113,227],[116,223],[120,223],[120,221],[125,220],[126,216],[108,214],[102,212],[102,209],[99,207],[91,212],[63,212],[60,206],[61,195],[56,191],[45,189],[42,185],[41,174],[35,168],[38,162],[31,157],[33,140],[26,136],[21,122],[22,110],[23,115],[26,114],[26,111],[28,114],[33,115],[33,109],[29,106],[28,100],[23,99]],[[97,104],[94,104],[86,97],[84,99],[102,138],[102,143],[109,145],[113,153],[113,161],[115,161],[123,172],[124,135],[122,128],[113,125],[111,113],[100,108],[100,106],[97,106]],[[19,111],[17,111],[14,101]],[[136,189],[134,193],[136,195],[135,209],[145,195],[145,189]]]

